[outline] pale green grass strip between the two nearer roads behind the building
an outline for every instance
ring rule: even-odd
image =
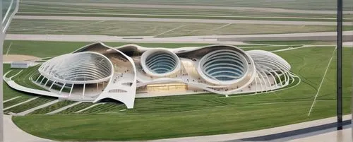
[[[335,26],[330,25],[227,24],[14,19],[8,33],[177,37],[335,31]],[[352,28],[345,26],[344,30],[352,30]]]

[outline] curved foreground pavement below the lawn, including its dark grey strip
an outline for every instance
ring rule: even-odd
[[[343,131],[335,131],[336,117],[326,119],[318,119],[311,122],[302,122],[299,124],[291,124],[279,126],[270,129],[262,129],[258,131],[246,131],[234,134],[220,134],[213,136],[192,136],[184,138],[168,138],[153,140],[151,142],[174,142],[174,141],[351,141],[350,119],[352,115],[348,114],[343,117],[345,129]],[[4,140],[5,142],[54,142],[37,136],[27,134],[25,131],[16,126],[11,120],[11,116],[4,115]]]

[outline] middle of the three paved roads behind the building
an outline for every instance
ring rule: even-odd
[[[123,20],[145,22],[181,22],[181,23],[243,23],[243,24],[275,24],[275,25],[336,25],[336,22],[322,21],[287,21],[287,20],[222,20],[222,19],[190,19],[190,18],[125,18],[125,17],[83,17],[83,16],[14,16],[14,19],[37,20]],[[343,25],[353,25],[345,22]]]

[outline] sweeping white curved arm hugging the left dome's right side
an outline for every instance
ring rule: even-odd
[[[93,102],[110,98],[123,102],[128,109],[133,108],[136,95],[136,66],[131,57],[101,42],[82,47],[73,54],[84,52],[97,52],[107,57],[112,63],[112,76],[107,81],[107,86]],[[124,64],[124,65],[123,65]],[[128,83],[129,85],[124,85]]]

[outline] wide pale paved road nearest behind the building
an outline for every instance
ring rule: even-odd
[[[244,45],[240,41],[255,40],[335,40],[336,32],[309,32],[309,33],[289,33],[289,34],[268,34],[268,35],[204,35],[186,37],[118,37],[109,35],[20,35],[8,34],[6,40],[32,40],[32,41],[66,41],[66,42],[193,42],[193,43],[228,43],[234,45]],[[344,37],[346,45],[352,45],[353,31],[345,31]],[[327,39],[329,38],[329,39]]]

